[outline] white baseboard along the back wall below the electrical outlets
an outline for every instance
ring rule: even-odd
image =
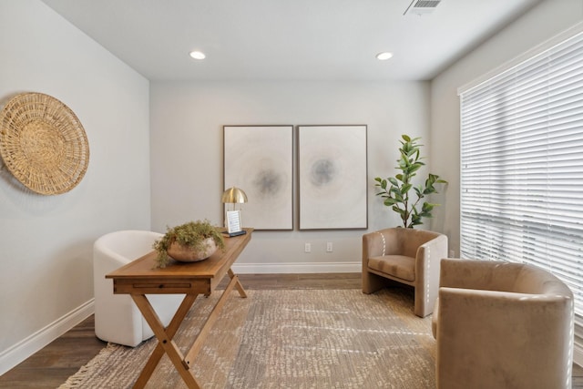
[[[239,274],[300,274],[319,272],[361,272],[358,262],[288,262],[288,263],[235,263],[233,271]]]

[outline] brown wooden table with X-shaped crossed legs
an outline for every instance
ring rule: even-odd
[[[178,370],[180,376],[189,388],[199,388],[194,375],[190,372],[190,366],[202,348],[202,345],[210,333],[214,322],[219,317],[220,310],[229,297],[233,288],[237,288],[241,297],[247,297],[245,290],[239,282],[239,278],[230,270],[239,254],[247,243],[251,241],[253,229],[245,229],[246,234],[232,238],[225,238],[225,250],[216,251],[209,259],[198,262],[171,262],[164,269],[156,268],[156,251],[132,261],[127,265],[112,271],[106,278],[113,280],[113,292],[116,294],[130,294],[138,305],[138,309],[144,315],[152,331],[158,339],[158,345],[150,355],[148,363],[138,376],[134,388],[143,388],[148,382],[160,358],[167,353],[170,361]],[[229,274],[230,282],[222,292],[219,301],[210,312],[207,321],[200,329],[199,335],[192,343],[189,353],[183,355],[179,347],[172,340],[179,330],[179,326],[186,317],[190,307],[199,294],[209,296],[223,279]],[[148,302],[146,294],[179,294],[185,293],[184,300],[167,328],[160,322],[158,315]]]

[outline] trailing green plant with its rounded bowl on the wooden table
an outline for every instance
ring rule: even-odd
[[[153,248],[158,251],[156,261],[159,267],[164,268],[170,258],[188,262],[205,260],[217,248],[224,249],[225,241],[209,220],[197,220],[167,227],[166,234],[154,242]]]

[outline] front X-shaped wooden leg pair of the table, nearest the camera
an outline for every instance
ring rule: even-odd
[[[189,388],[199,389],[200,386],[197,383],[194,376],[189,372],[188,364],[184,363],[184,357],[180,353],[179,347],[177,346],[172,338],[174,334],[178,331],[180,323],[184,320],[184,317],[189,312],[190,307],[196,300],[196,294],[188,294],[184,300],[180,303],[179,310],[174,314],[172,321],[169,324],[168,330],[164,329],[164,325],[160,322],[158,314],[152,308],[152,305],[148,302],[148,299],[143,294],[132,294],[131,295],[136,305],[138,305],[139,311],[148,322],[150,328],[156,335],[158,339],[158,345],[156,349],[150,356],[148,363],[139,375],[134,388],[143,388],[148,382],[149,377],[154,372],[154,369],[159,363],[160,358],[165,353],[168,354],[170,361],[178,370],[180,376],[187,384]]]

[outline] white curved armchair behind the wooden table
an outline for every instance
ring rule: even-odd
[[[106,274],[152,251],[162,235],[147,230],[120,230],[108,233],[93,246],[95,292],[95,333],[97,338],[131,347],[154,335],[138,307],[127,294],[114,294]],[[164,325],[177,311],[183,294],[148,295],[148,300]]]

